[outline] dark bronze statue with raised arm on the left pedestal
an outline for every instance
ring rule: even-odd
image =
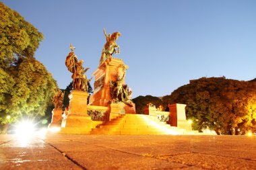
[[[65,65],[67,66],[67,69],[73,73],[71,76],[73,79],[73,89],[79,91],[88,91],[88,82],[91,81],[91,79],[88,80],[84,73],[86,73],[86,71],[88,71],[90,68],[84,69],[84,60],[78,60],[75,52],[73,51],[75,47],[73,47],[71,44],[70,49],[71,52],[69,52],[66,57]]]

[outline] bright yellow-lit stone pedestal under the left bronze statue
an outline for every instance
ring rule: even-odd
[[[69,113],[65,119],[63,134],[90,134],[92,120],[87,114],[87,97],[85,91],[71,91],[69,94]]]

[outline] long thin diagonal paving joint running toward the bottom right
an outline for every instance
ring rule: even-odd
[[[71,140],[71,139],[68,139],[70,140],[71,142],[81,142],[81,141],[77,141],[77,140]],[[84,143],[84,144],[90,144],[90,143],[86,143],[86,142],[81,142],[81,143]],[[97,144],[90,144],[92,146],[98,146],[98,147],[101,147],[101,148],[107,148],[107,149],[110,149],[110,150],[113,150],[113,151],[119,151],[121,153],[127,153],[127,154],[130,154],[130,155],[137,155],[137,156],[140,156],[140,157],[150,157],[150,158],[153,158],[153,159],[158,159],[158,160],[161,160],[161,161],[166,161],[166,162],[172,162],[172,163],[179,163],[179,162],[175,162],[175,161],[169,161],[168,159],[161,159],[160,157],[156,157],[156,156],[148,156],[148,155],[140,155],[140,154],[137,154],[137,153],[128,153],[126,151],[121,151],[121,150],[118,150],[118,149],[115,149],[115,148],[108,148],[108,147],[105,147],[105,146],[99,146]],[[187,165],[187,164],[183,164],[183,163],[179,163],[181,165],[186,165],[187,167],[195,167],[194,165]],[[184,167],[184,168],[187,168],[187,167]],[[202,167],[200,167],[202,168]],[[182,168],[183,169],[183,168]],[[203,169],[203,168],[202,168]]]

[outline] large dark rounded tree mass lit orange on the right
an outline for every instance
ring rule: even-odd
[[[201,78],[183,85],[164,103],[185,103],[193,128],[210,128],[218,134],[245,134],[255,130],[256,83],[232,79]],[[197,120],[197,121],[195,121]]]

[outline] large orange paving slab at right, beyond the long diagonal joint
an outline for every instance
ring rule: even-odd
[[[95,135],[92,138],[90,136],[79,136],[79,138],[73,136],[71,140],[80,142],[82,148],[84,144],[93,144],[94,148],[102,146],[158,159],[167,157],[167,161],[189,166],[183,169],[256,169],[256,163],[253,162],[256,157],[255,139],[248,136]],[[181,161],[183,159],[189,161]],[[198,159],[199,161],[196,161]]]

